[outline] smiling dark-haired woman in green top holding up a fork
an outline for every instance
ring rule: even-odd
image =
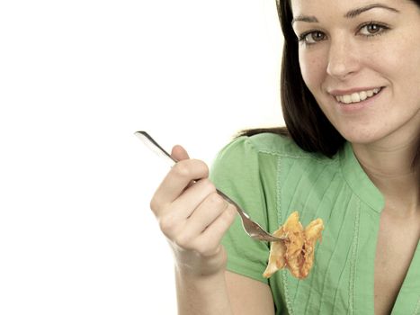
[[[179,313],[420,314],[420,1],[278,9],[287,130],[247,131],[210,179],[174,147],[181,161],[151,202],[174,251]],[[304,225],[323,219],[308,278],[264,279],[270,245],[246,236],[212,183],[269,231],[291,211]]]

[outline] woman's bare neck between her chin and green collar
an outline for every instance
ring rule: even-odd
[[[417,149],[417,137],[404,143],[353,144],[363,170],[384,195],[387,209],[420,211],[420,167],[413,165]]]

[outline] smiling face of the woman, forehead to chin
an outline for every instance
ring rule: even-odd
[[[308,89],[345,139],[420,131],[420,8],[408,0],[290,0]]]

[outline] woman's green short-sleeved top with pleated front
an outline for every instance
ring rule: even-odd
[[[292,211],[299,211],[303,226],[324,220],[314,266],[303,280],[288,270],[265,279],[270,245],[249,238],[239,217],[223,239],[228,270],[269,284],[276,314],[373,314],[374,260],[384,201],[350,144],[328,158],[271,133],[240,137],[220,151],[210,178],[270,232]],[[420,314],[418,245],[392,314]]]

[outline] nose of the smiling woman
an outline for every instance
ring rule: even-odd
[[[358,49],[349,38],[331,40],[326,73],[344,80],[360,68]]]

